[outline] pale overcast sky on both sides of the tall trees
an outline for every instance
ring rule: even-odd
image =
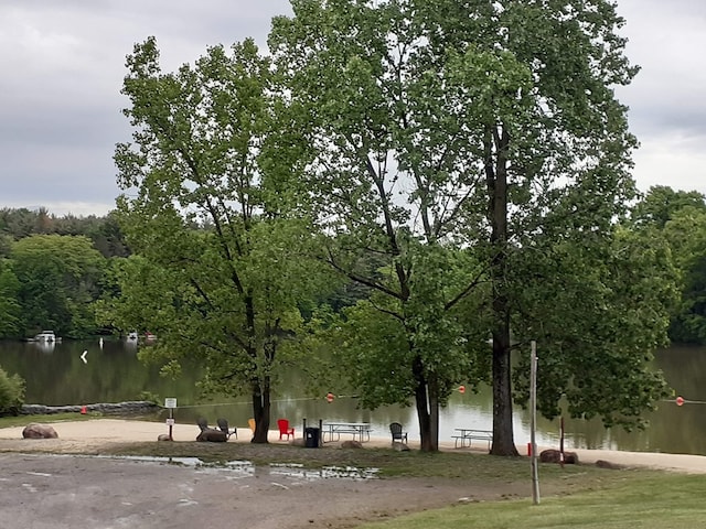
[[[706,193],[706,1],[618,0],[642,67],[618,93],[641,148],[638,186]],[[120,193],[115,143],[125,57],[154,35],[172,71],[206,46],[264,47],[288,0],[0,0],[0,208],[105,215]]]

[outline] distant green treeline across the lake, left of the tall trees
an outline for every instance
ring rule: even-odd
[[[58,217],[44,208],[0,209],[0,339],[44,330],[63,338],[127,334],[131,328],[120,327],[111,307],[130,256],[114,212]],[[338,311],[365,295],[351,283],[324,301]]]

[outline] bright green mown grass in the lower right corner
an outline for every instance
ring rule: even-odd
[[[614,472],[614,471],[610,471]],[[457,505],[359,529],[696,529],[706,527],[706,476],[616,473],[600,490]],[[542,479],[541,479],[542,481]],[[622,483],[621,483],[622,482]]]

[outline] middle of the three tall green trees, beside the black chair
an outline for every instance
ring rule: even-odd
[[[325,258],[374,292],[346,313],[346,365],[366,406],[413,401],[421,449],[434,451],[440,406],[488,347],[482,317],[464,333],[471,341],[458,335],[460,305],[483,274],[461,258],[461,227],[479,217],[471,204],[485,204],[482,173],[468,163],[475,145],[443,116],[441,73],[427,71],[424,28],[406,2],[292,6],[270,45],[311,145],[303,179],[330,235]]]

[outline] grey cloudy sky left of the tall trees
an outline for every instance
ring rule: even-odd
[[[23,0],[0,3],[0,207],[105,214],[119,190],[115,143],[126,55],[158,39],[172,71],[206,47],[266,43],[286,0]]]

